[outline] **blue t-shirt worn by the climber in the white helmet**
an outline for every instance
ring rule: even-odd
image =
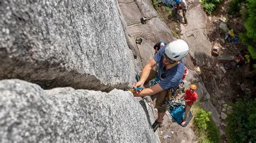
[[[181,82],[181,78],[184,75],[184,65],[183,62],[180,61],[178,65],[168,70],[164,70],[164,50],[166,46],[160,48],[156,55],[154,55],[153,59],[158,63],[158,77],[160,79],[159,85],[164,90],[169,88],[174,88]]]

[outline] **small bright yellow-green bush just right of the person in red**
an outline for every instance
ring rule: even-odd
[[[205,112],[205,110],[199,109],[196,117],[194,117],[194,123],[200,130],[206,130],[207,121],[210,121],[208,115],[211,115],[211,112]]]

